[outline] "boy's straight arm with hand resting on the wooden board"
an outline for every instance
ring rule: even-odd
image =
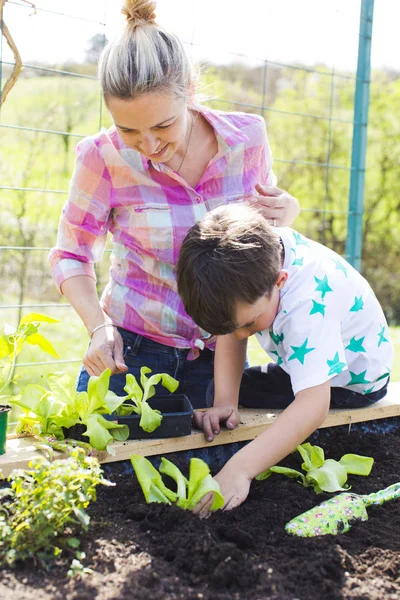
[[[195,424],[211,442],[220,432],[220,423],[228,429],[239,424],[239,388],[246,362],[247,339],[238,341],[233,335],[217,338],[214,360],[214,406],[195,413]]]

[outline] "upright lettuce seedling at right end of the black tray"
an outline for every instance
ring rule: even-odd
[[[116,410],[117,415],[121,416],[133,412],[141,415],[139,425],[147,433],[152,433],[162,421],[161,412],[151,408],[147,402],[156,393],[154,386],[161,382],[169,392],[175,392],[179,385],[179,382],[167,373],[156,373],[148,378],[147,374],[151,372],[149,367],[140,369],[140,383],[143,389],[136,381],[136,377],[128,373],[124,387],[128,395],[123,398],[124,403]],[[131,402],[128,403],[127,400]]]

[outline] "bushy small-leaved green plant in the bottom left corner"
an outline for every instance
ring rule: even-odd
[[[0,563],[8,565],[27,558],[46,562],[77,549],[76,532],[88,529],[85,509],[96,500],[96,486],[114,485],[97,459],[78,449],[67,459],[35,459],[8,480],[11,487],[0,490]]]

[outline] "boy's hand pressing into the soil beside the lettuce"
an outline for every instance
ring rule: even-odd
[[[218,481],[221,493],[225,498],[222,510],[231,510],[240,506],[249,495],[251,479],[242,470],[231,467],[230,461],[214,477]],[[210,516],[210,508],[214,500],[213,492],[209,492],[200,500],[193,512],[201,518]]]

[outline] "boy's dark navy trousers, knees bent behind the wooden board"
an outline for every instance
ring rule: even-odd
[[[387,386],[376,392],[360,394],[347,388],[331,387],[331,408],[370,406],[386,395]],[[276,363],[244,370],[239,391],[239,404],[246,408],[286,408],[294,400],[290,376]],[[206,396],[207,406],[214,403],[214,381]]]

